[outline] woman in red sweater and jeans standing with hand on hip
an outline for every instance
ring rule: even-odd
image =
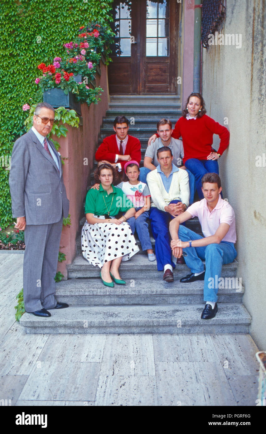
[[[211,146],[214,134],[219,135],[221,139],[217,152]],[[178,139],[180,136],[184,147],[183,162],[194,174],[199,199],[203,199],[201,178],[209,172],[219,174],[217,159],[229,145],[230,133],[223,125],[206,115],[202,95],[193,92],[189,95],[186,109],[183,110],[182,117],[178,119],[172,132],[173,138]],[[158,135],[153,135],[148,145],[156,137]]]

